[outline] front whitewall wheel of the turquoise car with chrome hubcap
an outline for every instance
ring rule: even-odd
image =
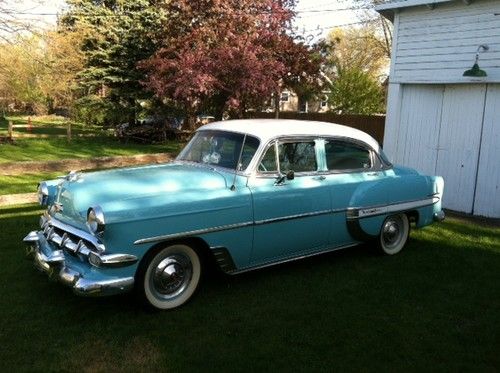
[[[146,260],[141,295],[158,309],[179,307],[194,294],[200,275],[200,258],[191,247],[168,246]]]

